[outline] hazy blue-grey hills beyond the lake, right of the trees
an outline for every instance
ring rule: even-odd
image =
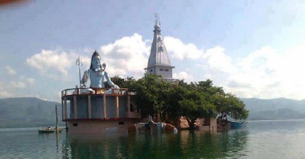
[[[241,98],[249,120],[305,119],[305,100]]]

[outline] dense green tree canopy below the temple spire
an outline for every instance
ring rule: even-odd
[[[137,108],[142,116],[160,115],[161,119],[178,124],[185,116],[191,127],[197,118],[216,117],[246,119],[249,111],[235,95],[225,93],[222,87],[213,86],[211,80],[191,82],[180,80],[178,84],[162,81],[158,76],[145,74],[135,80],[133,77],[111,78],[120,88],[129,88],[136,92]]]

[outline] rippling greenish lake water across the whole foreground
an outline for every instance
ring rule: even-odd
[[[304,158],[305,120],[252,121],[223,133],[66,135],[0,129],[0,158]]]

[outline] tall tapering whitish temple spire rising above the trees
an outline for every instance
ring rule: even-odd
[[[172,78],[172,69],[175,68],[175,66],[170,65],[170,59],[161,36],[160,20],[157,14],[155,14],[155,26],[153,32],[152,47],[147,68],[145,69],[148,73],[161,75],[162,78]]]

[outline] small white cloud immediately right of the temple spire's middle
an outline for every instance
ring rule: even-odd
[[[184,58],[197,59],[203,54],[203,51],[197,49],[194,44],[185,44],[180,39],[174,37],[165,36],[164,44],[168,54],[170,54],[171,57],[180,60],[183,60]]]

